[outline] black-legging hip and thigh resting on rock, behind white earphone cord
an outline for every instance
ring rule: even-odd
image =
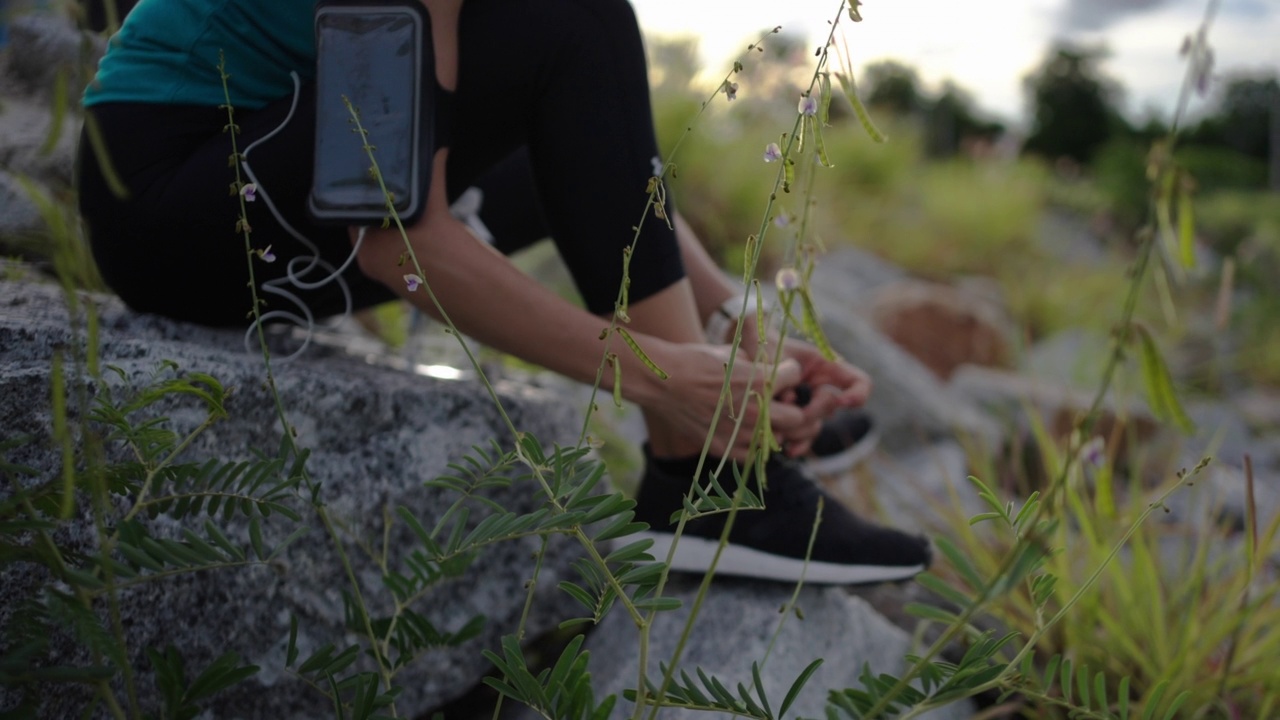
[[[237,113],[237,147],[279,127],[292,97],[261,110]],[[271,247],[278,260],[253,259],[255,279],[280,281],[291,268],[302,270],[319,258],[340,265],[351,255],[342,227],[317,227],[305,214],[311,184],[314,105],[303,90],[298,111],[284,131],[256,146],[248,161],[260,182],[259,200],[246,204],[251,242]],[[239,197],[230,192],[236,169],[229,165],[232,136],[223,132],[227,111],[204,106],[109,104],[90,109],[101,128],[105,151],[129,191],[116,197],[106,186],[97,158],[86,137],[81,142],[81,211],[90,232],[93,256],[108,284],[136,310],[157,313],[211,325],[242,325],[252,307],[250,254],[237,232]],[[242,178],[248,178],[242,174]],[[298,231],[306,245],[288,233]],[[303,277],[316,281],[320,268]],[[384,286],[362,275],[352,264],[343,282],[355,305],[366,306],[393,297]],[[343,290],[337,283],[303,290],[284,284],[316,318],[342,313]],[[279,295],[260,293],[264,310],[302,314]]]

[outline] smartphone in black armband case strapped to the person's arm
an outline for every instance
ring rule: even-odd
[[[307,210],[325,224],[389,215],[376,161],[406,224],[426,206],[434,152],[435,56],[421,0],[321,0],[315,10],[315,174]],[[346,100],[344,100],[346,99]],[[352,110],[372,146],[372,160]]]

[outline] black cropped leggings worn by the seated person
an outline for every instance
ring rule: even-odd
[[[520,201],[530,202],[545,222],[588,309],[609,313],[622,282],[622,249],[641,219],[657,156],[635,14],[622,0],[468,0],[458,33],[451,201],[504,160],[527,168],[520,177],[531,179],[518,182],[531,192]],[[292,101],[237,111],[239,149],[280,126]],[[90,113],[129,191],[125,200],[111,193],[82,138],[81,210],[108,284],[141,311],[214,325],[246,323],[248,260],[236,232],[239,204],[228,192],[234,174],[228,167],[230,136],[223,132],[225,110],[101,104]],[[351,255],[346,228],[316,225],[305,213],[314,113],[312,88],[303,86],[296,115],[283,132],[256,146],[248,163],[260,192],[325,261],[340,265]],[[310,255],[265,202],[247,208],[253,246],[270,245],[279,258],[273,264],[255,261],[260,282],[280,278],[291,258]],[[485,215],[494,211],[500,208]],[[324,274],[316,270],[306,279]],[[684,277],[675,236],[655,218],[643,224],[630,274],[632,301]],[[355,264],[343,278],[357,307],[393,297]],[[344,305],[335,284],[291,291],[316,316],[340,313]],[[449,299],[444,301],[448,307]],[[283,301],[269,302],[268,309],[293,310]]]

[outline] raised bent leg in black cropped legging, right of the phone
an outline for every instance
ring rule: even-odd
[[[682,278],[675,234],[644,217],[658,150],[631,6],[468,0],[460,33],[449,195],[527,146],[547,231],[593,313],[613,309],[636,225],[631,299]]]

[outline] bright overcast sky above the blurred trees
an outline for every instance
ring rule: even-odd
[[[760,29],[783,26],[810,44],[840,0],[632,0],[646,32],[695,35],[704,64],[723,72]],[[1125,90],[1132,117],[1166,117],[1181,85],[1178,49],[1206,0],[864,0],[859,24],[841,23],[858,67],[896,59],[933,90],[951,78],[978,105],[1023,119],[1021,78],[1055,38],[1103,42],[1105,72]],[[1221,0],[1210,28],[1216,76],[1280,73],[1280,0]],[[817,45],[815,45],[817,46]]]

